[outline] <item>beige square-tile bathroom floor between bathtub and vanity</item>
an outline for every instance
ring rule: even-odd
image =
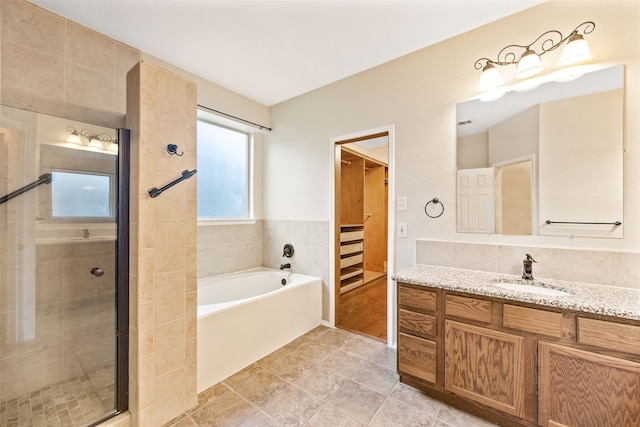
[[[165,427],[495,426],[401,384],[395,350],[320,326],[198,395]]]

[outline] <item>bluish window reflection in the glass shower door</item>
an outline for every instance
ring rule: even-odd
[[[111,176],[51,172],[52,218],[112,218]]]

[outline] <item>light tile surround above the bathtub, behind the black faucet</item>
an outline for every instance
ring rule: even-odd
[[[286,243],[291,258],[282,256]],[[329,319],[329,222],[258,220],[255,224],[199,225],[198,278],[255,267],[280,268],[322,278],[322,318]]]

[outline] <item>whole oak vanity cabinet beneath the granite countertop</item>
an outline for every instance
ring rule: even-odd
[[[501,426],[640,426],[640,321],[398,282],[403,383]]]

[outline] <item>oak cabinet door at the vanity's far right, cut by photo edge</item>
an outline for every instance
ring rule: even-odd
[[[540,342],[543,426],[640,426],[640,363]]]

